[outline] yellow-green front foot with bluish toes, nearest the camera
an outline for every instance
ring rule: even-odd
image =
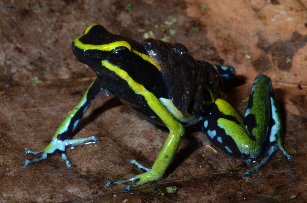
[[[129,177],[127,179],[121,179],[121,180],[116,180],[116,181],[108,181],[102,184],[104,187],[108,187],[110,185],[117,185],[117,184],[122,184],[126,182],[132,182],[132,181],[138,181],[132,185],[127,186],[124,189],[124,192],[129,192],[131,188],[141,186],[145,183],[149,182],[154,182],[154,181],[159,181],[163,178],[164,174],[153,174],[153,172],[149,168],[143,167],[141,164],[136,162],[134,159],[130,160],[131,164],[136,165],[139,169],[144,170],[145,172],[136,176]]]

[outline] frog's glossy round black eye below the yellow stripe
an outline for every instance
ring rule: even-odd
[[[110,51],[109,61],[116,65],[121,65],[130,59],[131,52],[125,46],[119,46]]]

